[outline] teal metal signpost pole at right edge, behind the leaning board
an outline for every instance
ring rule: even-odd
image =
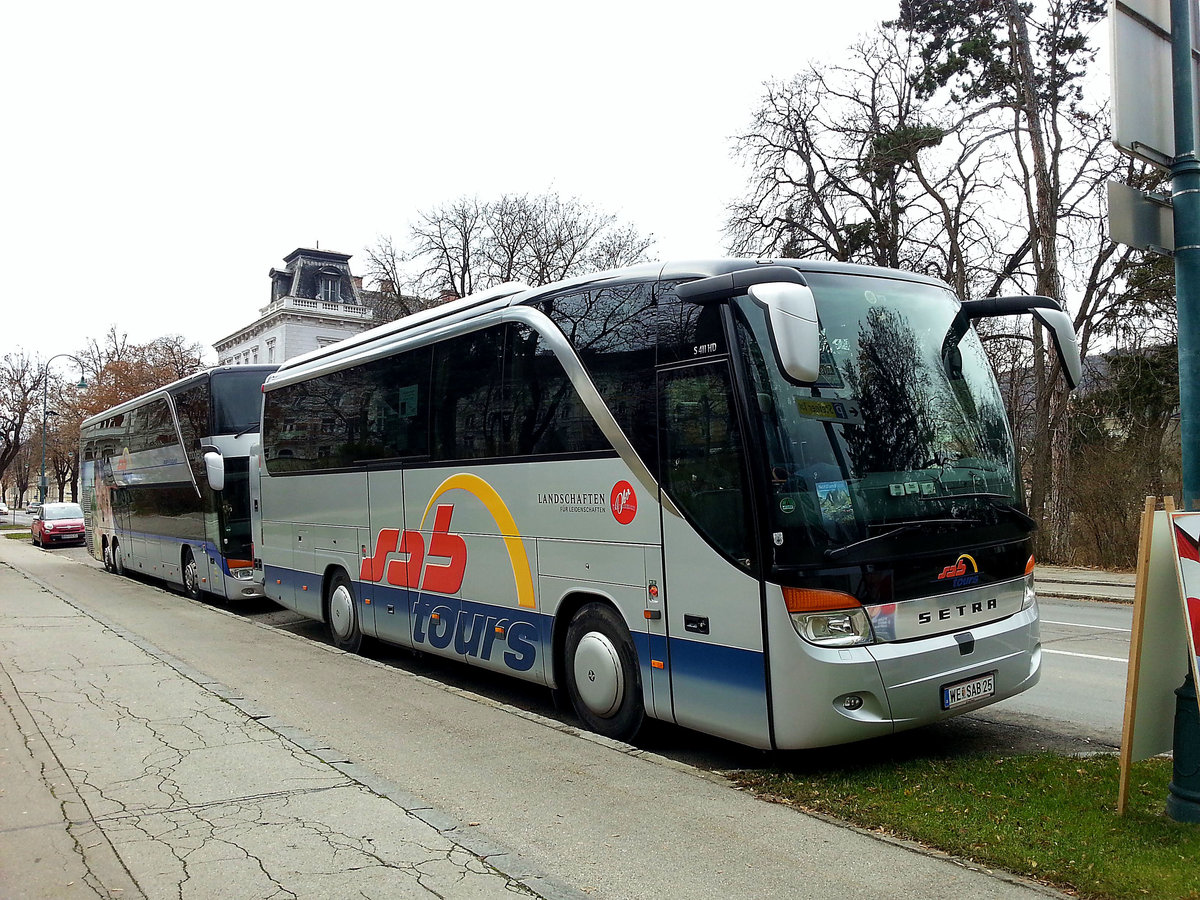
[[[1196,158],[1195,84],[1192,64],[1192,7],[1171,0],[1171,88],[1175,160],[1171,198],[1175,217],[1175,308],[1178,316],[1180,436],[1183,444],[1183,509],[1200,509],[1200,160]],[[1189,670],[1190,670],[1190,662]],[[1200,822],[1200,712],[1192,673],[1175,692],[1175,739],[1166,811],[1178,822]]]

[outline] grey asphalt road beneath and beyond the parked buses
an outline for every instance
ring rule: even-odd
[[[100,568],[82,547],[58,547],[53,552],[72,562]],[[1055,570],[1061,572],[1063,570]],[[1073,570],[1070,588],[1061,593],[1086,594],[1088,574]],[[1106,580],[1099,574],[1099,580]],[[1061,582],[1056,582],[1061,583]],[[157,587],[156,582],[146,582]],[[1052,588],[1057,589],[1057,588]],[[1099,592],[1098,592],[1099,593]],[[1111,593],[1111,592],[1109,592]],[[1128,592],[1132,594],[1132,588]],[[786,766],[823,766],[846,754],[922,755],[956,754],[1001,749],[1027,752],[1049,749],[1061,752],[1115,750],[1121,744],[1124,709],[1124,680],[1129,650],[1132,606],[1120,602],[1042,598],[1042,680],[1032,690],[992,707],[948,722],[918,728],[881,742],[840,748],[835,751],[805,751],[774,755]],[[328,643],[320,624],[284,610],[270,600],[221,606],[248,620]],[[484,695],[539,715],[577,725],[570,712],[554,709],[548,691],[516,679],[488,678],[476,670],[451,661],[418,655],[409,650],[366,642],[364,655],[389,666]],[[1182,680],[1183,673],[1180,673]],[[684,728],[649,722],[638,736],[638,746],[679,762],[727,772],[764,764],[761,751],[730,744]]]

